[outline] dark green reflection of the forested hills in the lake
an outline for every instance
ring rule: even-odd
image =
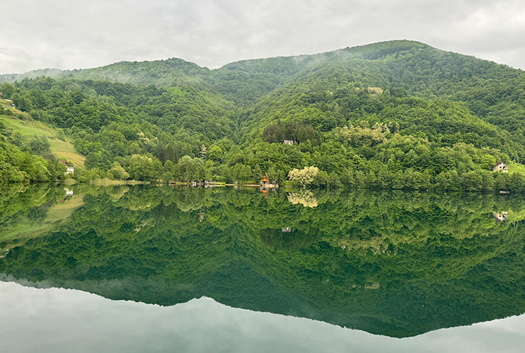
[[[396,337],[525,311],[519,196],[68,190],[0,195],[5,280],[161,305],[209,296]]]

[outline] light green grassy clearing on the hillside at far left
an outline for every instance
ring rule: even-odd
[[[6,100],[2,100],[0,103],[5,104]],[[25,116],[19,110],[12,108],[11,110],[16,113],[18,117]],[[64,158],[73,162],[75,166],[80,166],[83,168],[86,157],[79,154],[70,141],[67,139],[65,141],[60,139],[56,130],[42,124],[42,122],[31,120],[29,117],[23,120],[18,119],[18,117],[0,115],[0,121],[3,122],[6,127],[13,130],[13,132],[18,132],[21,134],[25,139],[29,139],[33,136],[47,137],[47,139],[50,141],[51,151],[53,154],[59,158]]]

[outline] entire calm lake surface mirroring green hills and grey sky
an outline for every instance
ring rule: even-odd
[[[522,195],[11,185],[6,352],[521,352]]]

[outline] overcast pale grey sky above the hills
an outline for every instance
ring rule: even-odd
[[[1,0],[0,74],[180,57],[215,68],[410,39],[525,69],[523,0]]]

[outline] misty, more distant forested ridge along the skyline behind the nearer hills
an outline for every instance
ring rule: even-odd
[[[409,40],[347,47],[321,54],[244,60],[214,70],[173,58],[119,62],[95,69],[46,69],[0,75],[0,82],[36,76],[156,86],[191,82],[206,85],[236,104],[247,106],[283,83],[294,84],[301,76],[330,64],[352,71],[359,77],[357,83],[362,85],[383,89],[396,86],[414,96],[465,102],[473,112],[495,125],[510,131],[523,128],[519,117],[525,115],[524,71]],[[512,108],[509,109],[507,103],[512,103]]]

